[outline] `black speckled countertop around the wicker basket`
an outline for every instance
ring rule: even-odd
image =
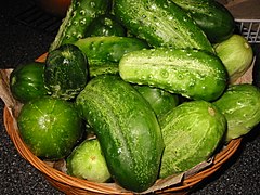
[[[48,20],[54,20],[54,27],[48,29],[42,27],[43,22],[37,24],[26,18],[28,10],[36,8],[32,1],[9,0],[0,4],[0,68],[14,68],[48,51],[60,20],[50,16]],[[3,107],[0,101],[0,194],[63,194],[17,153],[3,126]],[[191,194],[260,194],[259,152],[257,127],[243,139],[235,155]]]

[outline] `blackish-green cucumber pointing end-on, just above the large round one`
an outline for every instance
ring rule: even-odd
[[[48,53],[44,86],[53,98],[72,100],[89,80],[88,61],[74,44],[63,44]]]

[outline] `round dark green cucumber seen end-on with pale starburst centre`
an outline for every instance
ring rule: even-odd
[[[30,151],[50,160],[69,155],[83,133],[82,120],[74,104],[51,96],[26,103],[17,123]]]

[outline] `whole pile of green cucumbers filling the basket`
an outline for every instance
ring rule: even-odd
[[[259,88],[235,84],[253,54],[234,31],[213,0],[72,0],[46,62],[11,74],[21,135],[89,181],[144,192],[180,174],[260,121]]]

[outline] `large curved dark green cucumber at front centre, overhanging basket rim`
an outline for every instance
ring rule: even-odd
[[[76,104],[93,127],[114,179],[134,192],[152,186],[164,141],[147,101],[120,77],[102,75],[90,80]]]

